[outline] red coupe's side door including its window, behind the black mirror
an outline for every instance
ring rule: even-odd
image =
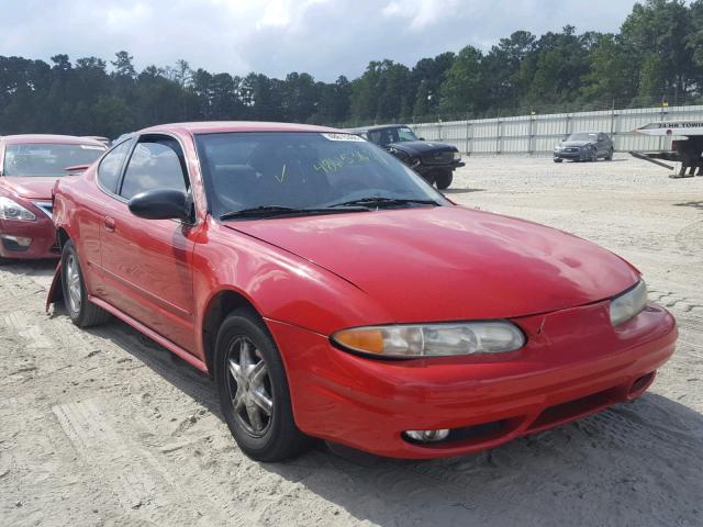
[[[144,220],[129,200],[152,189],[190,191],[183,150],[168,135],[138,138],[100,236],[104,300],[178,346],[193,350],[191,260],[197,228],[175,220]]]

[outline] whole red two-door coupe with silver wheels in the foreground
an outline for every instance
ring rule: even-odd
[[[144,130],[54,206],[48,301],[209,372],[258,460],[310,437],[400,458],[494,447],[638,397],[677,339],[622,258],[457,206],[333,128]]]

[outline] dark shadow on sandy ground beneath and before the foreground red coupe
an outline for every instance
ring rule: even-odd
[[[59,304],[56,315],[62,312]],[[207,375],[119,321],[90,333],[110,339],[222,421]],[[388,527],[696,525],[691,518],[702,514],[701,505],[691,496],[703,495],[703,416],[647,393],[635,403],[459,458],[339,455],[319,442],[295,460],[263,467],[359,522]]]

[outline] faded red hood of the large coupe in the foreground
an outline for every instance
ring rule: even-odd
[[[461,206],[227,223],[354,283],[390,319],[510,318],[614,296],[639,273],[560,231]]]

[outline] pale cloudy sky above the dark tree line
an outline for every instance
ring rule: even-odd
[[[0,55],[114,58],[137,70],[186,59],[194,69],[355,78],[370,60],[413,66],[517,30],[571,24],[617,32],[629,0],[0,0]]]

